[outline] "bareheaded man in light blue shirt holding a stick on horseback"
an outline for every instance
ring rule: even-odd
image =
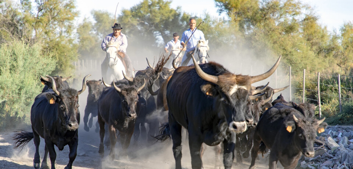
[[[186,47],[185,54],[182,57],[181,66],[186,66],[186,64],[189,62],[189,60],[191,59],[191,54],[193,54],[198,41],[205,40],[203,32],[199,29],[195,29],[195,27],[196,27],[196,19],[195,18],[189,19],[189,26],[190,26],[190,28],[185,30],[181,36],[181,43],[180,44],[183,47]],[[194,33],[192,34],[192,32],[194,32]],[[192,34],[192,37],[190,38],[191,34]],[[185,42],[189,38],[190,38],[190,40],[187,42],[187,44],[185,44]]]

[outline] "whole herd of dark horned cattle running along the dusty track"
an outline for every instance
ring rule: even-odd
[[[148,63],[149,67],[134,77],[124,75],[123,80],[112,84],[86,80],[88,75],[80,91],[70,88],[66,82],[70,77],[41,77],[45,87],[31,108],[32,132],[16,132],[15,147],[23,148],[33,139],[34,168],[49,169],[49,153],[51,169],[55,169],[54,145],[59,150],[69,145],[69,163],[65,169],[72,169],[79,139],[78,99],[88,86],[84,129],[89,131],[93,117],[98,116],[95,131],[99,131],[98,153],[102,156],[104,144],[110,144],[109,156],[114,159],[117,138],[122,155],[128,154],[133,135],[133,145],[139,144],[140,135],[140,140],[148,143],[172,138],[176,169],[181,169],[182,128],[188,133],[192,169],[203,169],[205,145],[215,147],[215,168],[221,167],[222,151],[225,169],[232,168],[235,153],[236,162],[242,163],[242,157],[248,158],[250,150],[249,169],[254,168],[258,154],[268,150],[270,169],[275,169],[278,161],[285,169],[294,169],[302,155],[314,156],[316,132],[323,132],[327,126],[324,119],[314,117],[315,107],[309,103],[287,102],[282,95],[272,101],[273,93],[288,86],[278,89],[268,84],[252,86],[268,78],[281,57],[269,71],[258,76],[235,75],[214,62],[198,65],[193,57],[192,66],[176,68],[174,65],[174,69],[167,69],[164,65],[168,59],[161,56],[156,67]],[[148,133],[145,123],[149,124]],[[106,133],[110,142],[104,142]],[[40,137],[45,141],[41,166]]]

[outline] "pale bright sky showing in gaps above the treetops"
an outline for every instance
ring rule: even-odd
[[[80,11],[81,22],[83,18],[90,17],[90,11],[107,10],[111,13],[115,12],[117,2],[119,6],[117,14],[120,14],[121,9],[129,9],[130,7],[138,4],[142,0],[76,0],[77,7]],[[353,0],[302,0],[314,6],[317,14],[320,16],[320,23],[326,25],[332,31],[336,29],[339,31],[344,22],[353,20]],[[212,16],[225,17],[226,14],[221,16],[217,13],[217,7],[214,0],[173,0],[172,7],[181,6],[181,10],[193,15],[200,16],[204,12],[208,12]]]

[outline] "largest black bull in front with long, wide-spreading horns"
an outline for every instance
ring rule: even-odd
[[[202,168],[202,143],[223,143],[224,167],[231,169],[235,134],[247,129],[245,114],[251,84],[269,77],[280,58],[268,72],[255,77],[234,75],[212,62],[199,66],[194,58],[195,66],[176,69],[167,86],[169,125],[164,125],[166,132],[156,137],[172,137],[176,169],[181,169],[181,127],[189,133],[192,169]]]

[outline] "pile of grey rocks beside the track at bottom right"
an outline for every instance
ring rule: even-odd
[[[353,127],[328,126],[325,132],[318,134],[315,144],[315,156],[302,156],[302,169],[353,169]]]

